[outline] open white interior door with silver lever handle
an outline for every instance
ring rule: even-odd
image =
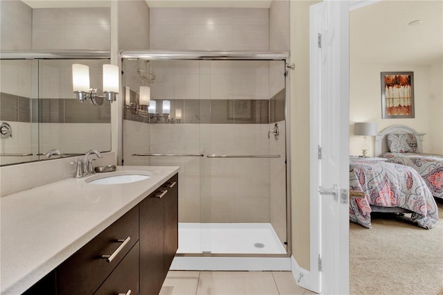
[[[348,17],[347,1],[311,6],[311,276],[321,294],[349,293]]]

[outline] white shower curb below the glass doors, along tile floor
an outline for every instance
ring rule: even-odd
[[[291,258],[176,256],[170,270],[290,271]]]

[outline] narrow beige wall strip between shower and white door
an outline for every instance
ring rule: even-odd
[[[292,253],[310,269],[309,235],[309,6],[320,1],[291,1],[291,224]]]

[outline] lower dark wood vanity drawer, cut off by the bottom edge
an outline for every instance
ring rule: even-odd
[[[138,251],[137,242],[94,294],[138,294]]]

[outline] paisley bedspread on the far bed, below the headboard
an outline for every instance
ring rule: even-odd
[[[432,195],[443,199],[443,156],[412,152],[387,152],[381,157],[388,159],[388,162],[399,163],[417,170]]]

